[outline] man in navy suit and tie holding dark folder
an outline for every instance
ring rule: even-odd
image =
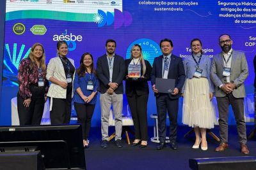
[[[173,43],[170,39],[162,39],[160,47],[163,55],[154,59],[151,83],[156,96],[159,145],[157,150],[163,149],[166,138],[166,111],[170,119],[170,145],[177,150],[177,117],[180,91],[185,81],[185,71],[182,59],[172,54]],[[156,89],[156,78],[175,79],[173,94],[159,93]]]

